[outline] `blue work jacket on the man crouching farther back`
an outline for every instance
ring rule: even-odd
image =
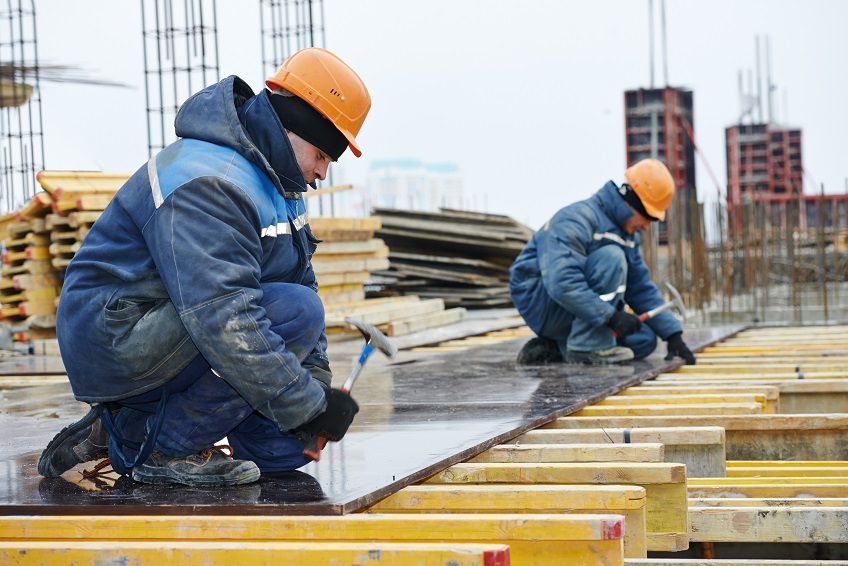
[[[589,287],[585,271],[586,258],[602,246],[624,250],[624,302],[636,313],[665,302],[642,259],[639,234],[627,234],[621,228],[632,215],[618,187],[608,181],[592,197],[562,208],[533,235],[510,268],[510,293],[530,328],[538,331],[544,325],[542,293],[593,326],[609,320],[616,308]],[[663,339],[681,330],[680,322],[668,311],[646,324]]]

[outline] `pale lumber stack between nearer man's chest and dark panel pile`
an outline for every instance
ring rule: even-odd
[[[389,267],[385,242],[375,237],[380,217],[311,218],[310,227],[322,240],[312,256],[318,295],[324,303],[328,334],[358,333],[344,319],[364,320],[386,333],[401,336],[458,322],[465,309],[445,309],[441,299],[418,296],[366,299],[372,273]]]

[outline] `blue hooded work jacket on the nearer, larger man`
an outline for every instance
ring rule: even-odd
[[[238,77],[192,96],[175,126],[181,139],[121,187],[68,266],[56,329],[74,395],[138,395],[201,354],[294,428],[324,407],[326,335],[301,364],[271,331],[260,284],[317,290],[303,173],[267,91]]]

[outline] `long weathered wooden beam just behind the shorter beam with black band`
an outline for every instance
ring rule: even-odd
[[[848,414],[568,416],[544,428],[721,426],[730,460],[848,460]]]

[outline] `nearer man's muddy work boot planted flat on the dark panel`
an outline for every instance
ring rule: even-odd
[[[158,450],[133,468],[133,479],[152,484],[194,487],[241,485],[259,479],[259,468],[249,460],[233,460],[220,446],[188,456],[168,456]]]

